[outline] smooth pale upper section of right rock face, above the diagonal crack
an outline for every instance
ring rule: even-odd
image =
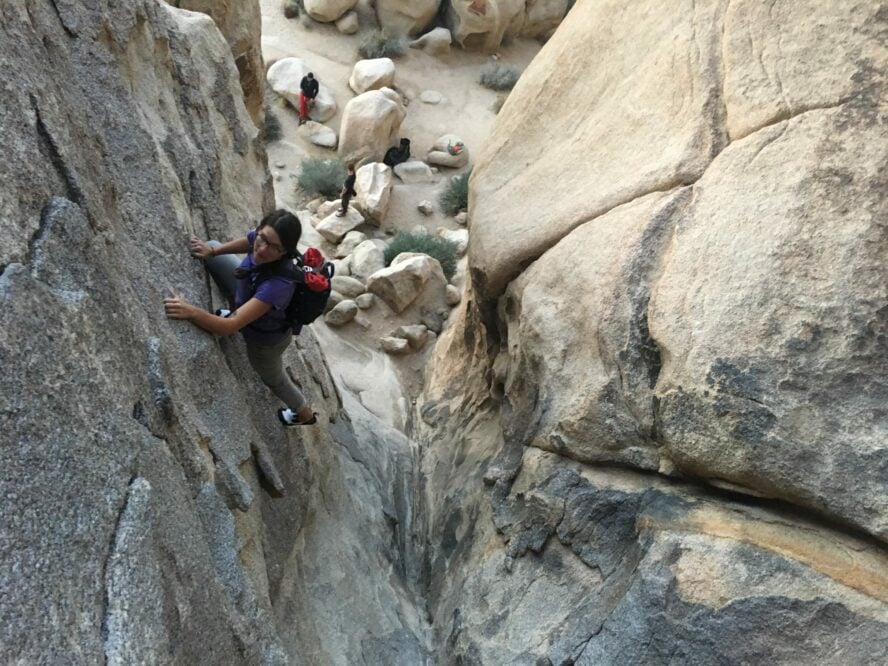
[[[854,27],[870,20],[863,6],[829,5],[810,16],[781,6],[779,21],[746,5],[724,17],[711,2],[698,8],[706,11],[664,17],[646,3],[613,15],[596,3],[570,10],[522,73],[476,156],[472,215],[488,221],[472,231],[477,287],[502,293],[521,266],[582,222],[648,192],[695,182],[729,141],[786,118],[790,109],[835,106],[866,88],[870,75],[856,74],[855,63],[871,61],[876,47]],[[596,33],[596,52],[611,54],[610,66],[577,67],[576,45],[602,21],[610,29]],[[784,22],[804,26],[794,29],[787,60],[777,55]],[[742,37],[740,25],[754,26],[762,41]],[[648,46],[627,50],[627,39]],[[694,68],[677,76],[671,63],[697,46]],[[759,54],[765,69],[756,64]],[[542,89],[560,92],[540,95]],[[595,103],[580,109],[573,103],[578,95]],[[516,214],[527,210],[540,215]]]

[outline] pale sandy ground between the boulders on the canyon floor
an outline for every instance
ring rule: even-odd
[[[366,0],[362,0],[358,6],[359,32],[343,35],[333,24],[287,19],[281,0],[261,0],[260,4],[266,66],[285,57],[302,58],[336,99],[337,113],[325,125],[338,135],[342,110],[355,95],[348,87],[348,79],[355,62],[360,59],[358,44],[366,31],[376,27],[372,10]],[[503,47],[497,54],[497,61],[524,69],[539,49],[540,45],[535,41],[519,40]],[[407,104],[401,136],[411,141],[411,159],[423,159],[439,136],[452,133],[465,142],[471,164],[472,156],[484,145],[496,119],[493,108],[497,94],[478,82],[481,67],[488,62],[491,62],[491,56],[465,52],[458,47],[453,47],[449,55],[439,57],[408,49],[404,56],[395,60],[395,87]],[[437,105],[423,103],[419,97],[426,90],[437,91],[443,100]],[[268,146],[275,198],[278,206],[302,211],[305,202],[295,190],[302,160],[306,157],[336,157],[336,152],[302,139],[297,132],[298,118],[293,109],[278,104],[273,110],[283,130],[283,138]],[[390,239],[396,231],[410,230],[418,225],[432,233],[437,233],[441,227],[459,228],[453,218],[437,210],[437,200],[447,180],[461,171],[441,167],[434,183],[422,185],[406,185],[396,178],[388,215],[381,228],[362,226],[359,230],[371,238]],[[416,207],[423,200],[435,204],[433,215],[419,213]],[[332,257],[335,248],[305,224],[307,220],[303,222],[303,242],[319,247]],[[460,288],[464,282],[464,270],[465,259],[460,262],[457,277],[451,281]],[[340,388],[350,391],[387,424],[404,429],[411,396],[416,395],[422,386],[423,367],[434,340],[421,352],[389,357],[378,350],[379,338],[391,334],[402,324],[418,323],[417,314],[407,311],[395,315],[377,299],[377,304],[360,313],[359,318],[363,325],[352,323],[332,329],[319,320],[312,324],[312,330],[324,347]]]

